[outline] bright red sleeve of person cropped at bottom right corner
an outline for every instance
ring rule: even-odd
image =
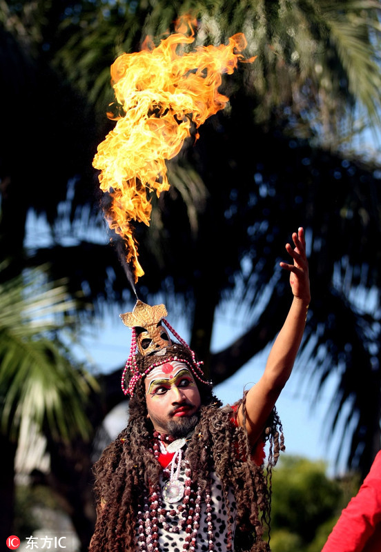
[[[322,552],[380,552],[381,451],[358,494],[342,511]]]

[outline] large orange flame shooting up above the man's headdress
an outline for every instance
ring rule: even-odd
[[[140,52],[123,54],[111,66],[124,115],[116,117],[115,128],[99,144],[93,166],[101,170],[101,190],[110,193],[106,219],[124,239],[135,283],[144,271],[131,222],[149,226],[150,193],[159,196],[169,188],[166,159],[179,153],[192,123],[198,128],[226,106],[228,98],[218,92],[221,75],[233,73],[246,48],[244,34],[238,33],[227,46],[199,46],[184,53],[184,45],[194,39],[193,26],[183,21],[157,48],[146,39]]]

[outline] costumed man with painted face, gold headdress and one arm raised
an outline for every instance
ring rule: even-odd
[[[121,315],[133,328],[122,377],[130,416],[95,465],[90,552],[269,550],[271,466],[284,449],[274,406],[291,374],[310,302],[302,228],[293,244],[286,244],[293,264],[280,263],[290,273],[289,314],[260,381],[233,406],[222,408],[213,395],[202,362],[164,319],[164,305],[138,301]]]

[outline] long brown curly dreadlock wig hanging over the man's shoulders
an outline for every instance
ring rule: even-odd
[[[168,362],[176,356],[191,365],[195,355],[182,344],[174,344],[160,357]],[[137,355],[141,373],[150,369],[157,357]],[[128,384],[128,376],[127,376]],[[271,469],[284,449],[282,425],[275,409],[268,419],[262,440],[269,442],[268,465],[253,460],[246,429],[235,420],[237,407],[224,406],[211,386],[197,381],[202,406],[186,458],[192,480],[205,494],[214,471],[222,482],[228,503],[231,489],[237,506],[235,551],[269,551]],[[130,397],[128,425],[101,455],[94,466],[97,524],[89,552],[136,552],[137,511],[144,492],[159,484],[162,466],[152,453],[153,426],[147,417],[144,380],[138,380]],[[261,444],[262,445],[262,444]],[[204,498],[204,497],[203,497]],[[228,524],[233,524],[228,518]]]

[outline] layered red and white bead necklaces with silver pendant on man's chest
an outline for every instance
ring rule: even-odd
[[[183,442],[184,441],[184,442]],[[159,525],[168,533],[180,533],[185,531],[183,550],[194,552],[197,547],[197,531],[199,529],[202,493],[199,486],[192,481],[192,471],[188,460],[183,460],[183,448],[186,446],[186,439],[175,440],[170,435],[154,433],[153,448],[150,451],[159,460],[160,453],[168,453],[163,442],[175,444],[174,455],[170,464],[163,469],[164,484],[163,491],[160,485],[150,487],[144,491],[144,504],[139,506],[137,513],[138,522],[138,545],[140,551],[159,552]],[[183,442],[183,443],[182,443]],[[169,469],[170,466],[170,469]],[[179,481],[180,469],[184,466],[184,484]],[[204,491],[206,502],[206,524],[208,526],[208,550],[214,549],[213,544],[213,521],[210,489]],[[168,511],[163,507],[164,499],[173,504],[182,499],[182,504],[177,508],[173,506]],[[176,519],[177,518],[177,519]]]

